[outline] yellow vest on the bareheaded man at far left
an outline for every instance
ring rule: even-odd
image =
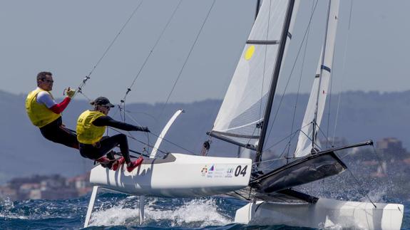
[[[41,91],[46,91],[41,88],[37,88],[36,90],[33,90],[27,95],[26,98],[26,112],[27,115],[29,115],[29,118],[33,125],[36,125],[37,127],[43,127],[54,120],[57,120],[58,117],[61,117],[61,114],[54,113],[51,111],[49,108],[46,107],[44,104],[37,103],[37,95]],[[50,93],[46,91],[47,93]],[[51,95],[51,93],[50,93]],[[51,98],[53,98],[53,95],[51,95]],[[54,98],[53,98],[54,99]]]

